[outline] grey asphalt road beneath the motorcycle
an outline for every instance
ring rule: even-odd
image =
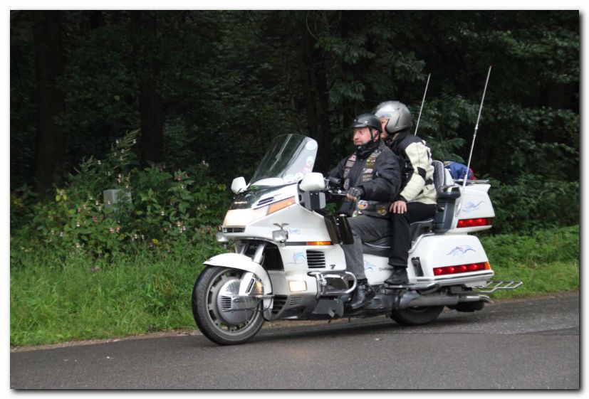
[[[444,311],[427,326],[378,316],[265,326],[217,346],[197,332],[11,351],[13,389],[578,389],[579,297]]]

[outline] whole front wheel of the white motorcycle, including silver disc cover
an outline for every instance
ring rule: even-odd
[[[243,270],[209,266],[192,289],[192,315],[204,336],[221,345],[243,344],[264,324],[261,301],[254,309],[230,310]]]

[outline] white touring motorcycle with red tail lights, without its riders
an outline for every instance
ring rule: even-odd
[[[312,172],[316,153],[309,137],[276,137],[251,183],[240,177],[231,184],[236,196],[217,240],[233,241],[235,252],[205,261],[192,292],[194,320],[211,341],[242,344],[264,320],[276,319],[387,314],[399,324],[426,324],[444,307],[481,310],[491,302],[486,294],[521,284],[492,280],[479,239],[469,235],[491,228],[488,181],[460,186],[434,161],[437,211],[412,224],[409,284],[384,282],[392,270],[390,238],[364,243],[365,274],[377,294],[363,308],[347,309],[356,278],[345,270],[341,245],[352,242],[350,226],[345,216],[325,211],[326,198],[345,193]]]

